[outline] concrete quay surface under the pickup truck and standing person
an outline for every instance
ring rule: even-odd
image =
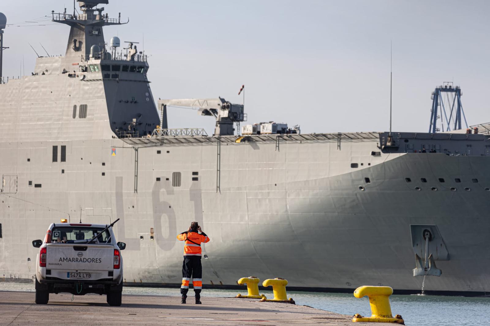
[[[179,297],[123,296],[111,307],[105,296],[50,294],[47,305],[35,304],[33,292],[0,291],[0,325],[369,325],[352,323],[352,316],[289,303],[261,303],[252,299],[194,297],[181,304]]]

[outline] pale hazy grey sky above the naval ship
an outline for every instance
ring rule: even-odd
[[[70,0],[2,1],[7,16],[4,75],[25,73],[41,55],[64,54],[69,26],[51,10]],[[463,90],[468,124],[490,121],[490,1],[453,0],[109,0],[106,42],[139,41],[151,55],[155,100],[224,97],[241,103],[248,123],[274,120],[302,132],[387,131],[390,41],[393,131],[427,132],[431,92],[443,81]],[[39,23],[26,23],[39,22]],[[21,26],[16,26],[21,24]],[[47,24],[38,26],[38,24]],[[1,99],[0,99],[1,100]],[[209,116],[169,108],[169,128],[214,128]]]

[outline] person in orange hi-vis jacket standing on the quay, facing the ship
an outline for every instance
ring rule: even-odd
[[[192,277],[192,284],[196,294],[196,304],[201,304],[202,289],[202,265],[201,265],[201,243],[209,242],[209,237],[202,232],[197,222],[192,222],[189,230],[177,235],[177,239],[184,241],[184,262],[182,263],[182,294],[181,303],[186,303],[187,292],[189,291],[189,281]]]

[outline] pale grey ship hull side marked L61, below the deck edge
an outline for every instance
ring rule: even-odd
[[[66,162],[50,162],[51,146],[62,144],[71,149]],[[175,236],[196,220],[211,238],[203,245],[204,284],[232,286],[254,275],[312,290],[370,284],[410,292],[423,280],[413,276],[411,226],[434,225],[449,258],[436,260],[442,275],[427,277],[425,290],[485,294],[490,158],[371,155],[378,145],[266,141],[136,151],[117,139],[2,143],[2,173],[16,175],[18,186],[1,196],[0,274],[32,279],[36,249],[29,243],[49,223],[81,215],[87,223],[121,218],[115,232],[127,243],[127,283],[178,284],[183,247]],[[43,147],[48,159],[8,170],[29,148]],[[28,186],[32,179],[42,187]]]

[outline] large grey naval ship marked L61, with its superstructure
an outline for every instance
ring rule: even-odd
[[[461,130],[432,128],[440,93],[459,88],[434,94],[428,133],[246,124],[243,105],[220,97],[155,103],[147,55],[105,41],[103,26],[126,22],[105,14],[108,0],[77,1],[52,13],[70,27],[65,56],[1,77],[0,280],[34,280],[31,241],[50,223],[121,218],[125,284],[180,284],[175,236],[198,221],[211,238],[205,287],[254,275],[415,293],[425,279],[429,293],[488,294],[490,127],[461,129],[459,115]],[[6,42],[4,29],[0,14]],[[168,128],[170,106],[215,118],[214,135]]]

